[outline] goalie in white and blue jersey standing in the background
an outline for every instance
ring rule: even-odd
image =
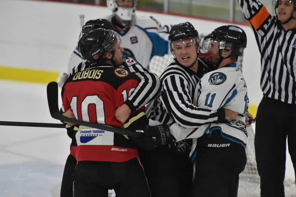
[[[115,31],[120,34],[124,54],[136,59],[149,70],[149,62],[154,55],[163,56],[169,51],[169,26],[161,26],[152,16],[148,18],[136,15],[136,5],[137,0],[107,0],[107,7],[112,14],[102,18],[111,21]],[[68,62],[67,71],[61,72],[57,79],[60,87],[73,67],[83,60],[76,46]]]

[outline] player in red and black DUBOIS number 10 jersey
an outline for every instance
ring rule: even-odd
[[[116,66],[124,63],[120,43],[115,31],[103,28],[94,29],[80,39],[79,50],[86,60],[78,67],[85,69],[70,75],[65,82],[61,91],[63,109],[72,108],[79,120],[134,131],[149,123],[144,106],[136,107],[126,124],[115,118],[115,111],[140,82],[128,69]],[[98,130],[78,125],[71,131],[71,154],[77,160],[74,197],[107,197],[108,189],[114,189],[117,196],[151,197],[136,144],[154,148],[155,142],[163,137],[153,133],[144,138],[145,131],[143,138],[133,139],[106,130],[100,131],[100,137],[96,138],[92,136],[97,136]]]

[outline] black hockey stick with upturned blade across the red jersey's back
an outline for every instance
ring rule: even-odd
[[[91,128],[97,128],[97,129],[101,129],[101,130],[111,131],[111,132],[117,133],[117,134],[123,134],[123,135],[128,135],[128,136],[133,136],[133,137],[140,137],[141,136],[140,133],[133,133],[128,130],[123,130],[120,128],[115,128],[115,127],[111,127],[111,126],[107,126],[107,125],[99,125],[99,124],[95,124],[95,123],[90,123],[90,122],[86,122],[83,120],[77,120],[77,119],[69,118],[69,117],[62,115],[59,112],[58,86],[57,86],[57,82],[55,82],[55,81],[50,82],[47,85],[47,101],[48,101],[50,115],[54,119],[62,120],[64,122],[74,123],[77,125],[84,125],[84,126],[88,126]]]

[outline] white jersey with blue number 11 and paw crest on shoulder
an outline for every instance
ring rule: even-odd
[[[224,123],[214,122],[194,129],[183,128],[174,123],[170,130],[177,141],[194,138],[193,152],[198,137],[219,129],[222,137],[246,147],[247,130],[244,115],[248,107],[247,85],[237,65],[232,63],[204,74],[195,91],[194,105],[210,110],[227,108],[238,112],[239,116],[236,120],[225,120]]]

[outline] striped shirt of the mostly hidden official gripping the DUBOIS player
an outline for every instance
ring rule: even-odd
[[[89,69],[91,67],[93,67],[93,65],[84,60],[72,69],[69,77],[74,73]],[[126,58],[125,63],[119,67],[128,69],[140,80],[137,88],[131,93],[131,95],[128,95],[128,99],[125,102],[132,112],[136,111],[136,109],[139,109],[140,107],[143,107],[145,104],[147,104],[149,101],[152,101],[159,95],[161,90],[161,82],[156,74],[149,72],[132,58]]]

